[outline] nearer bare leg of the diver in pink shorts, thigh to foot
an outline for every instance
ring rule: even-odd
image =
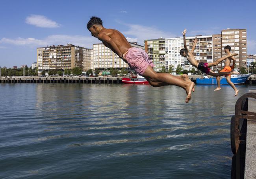
[[[186,103],[188,103],[189,100],[191,99],[191,92],[195,87],[195,83],[193,83],[192,81],[188,82],[183,80],[182,78],[176,78],[173,75],[168,73],[156,73],[151,66],[147,67],[143,76],[146,79],[149,79],[150,81],[155,83],[162,82],[162,83],[167,83],[169,85],[182,87],[183,89],[186,90],[186,93],[187,93]]]

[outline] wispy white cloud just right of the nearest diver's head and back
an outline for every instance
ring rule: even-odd
[[[133,36],[128,38],[137,39],[137,42],[140,45],[144,45],[144,41],[146,39],[158,39],[160,37],[163,37],[163,38],[177,37],[171,32],[162,31],[154,26],[148,27],[148,26],[142,26],[139,24],[125,24],[117,20],[116,22],[124,26],[127,26],[128,30],[123,31],[122,33],[124,33],[124,35]]]

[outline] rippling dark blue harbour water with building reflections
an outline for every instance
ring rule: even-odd
[[[213,89],[0,84],[0,178],[229,178],[239,96]]]

